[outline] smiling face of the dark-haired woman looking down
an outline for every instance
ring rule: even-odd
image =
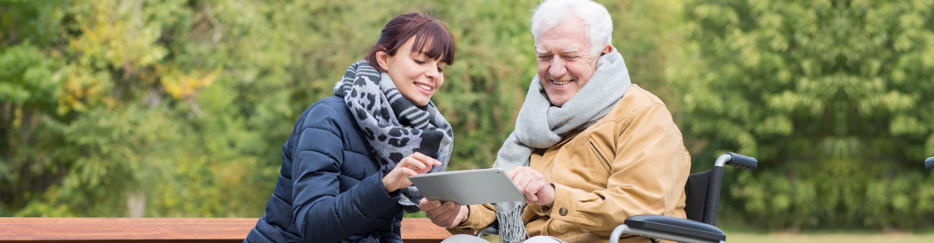
[[[443,56],[433,59],[424,53],[413,52],[414,43],[415,36],[409,37],[392,56],[386,51],[379,51],[376,53],[376,61],[386,70],[405,99],[416,106],[425,106],[431,101],[434,92],[445,83],[442,69],[446,64],[441,62]]]

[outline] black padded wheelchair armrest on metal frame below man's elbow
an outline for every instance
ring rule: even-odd
[[[618,232],[617,232],[618,231]],[[614,230],[611,240],[623,233],[680,242],[720,242],[727,235],[714,225],[663,215],[637,215]]]

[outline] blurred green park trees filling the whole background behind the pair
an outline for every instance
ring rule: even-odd
[[[432,99],[448,170],[489,167],[535,75],[538,2],[0,0],[0,217],[260,217],[299,115],[426,9],[455,39]],[[598,2],[692,172],[758,159],[727,169],[719,226],[934,229],[934,1]]]

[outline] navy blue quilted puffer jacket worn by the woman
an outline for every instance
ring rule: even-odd
[[[266,214],[244,242],[402,242],[392,168],[372,159],[344,99],[308,107],[282,146],[282,169]]]

